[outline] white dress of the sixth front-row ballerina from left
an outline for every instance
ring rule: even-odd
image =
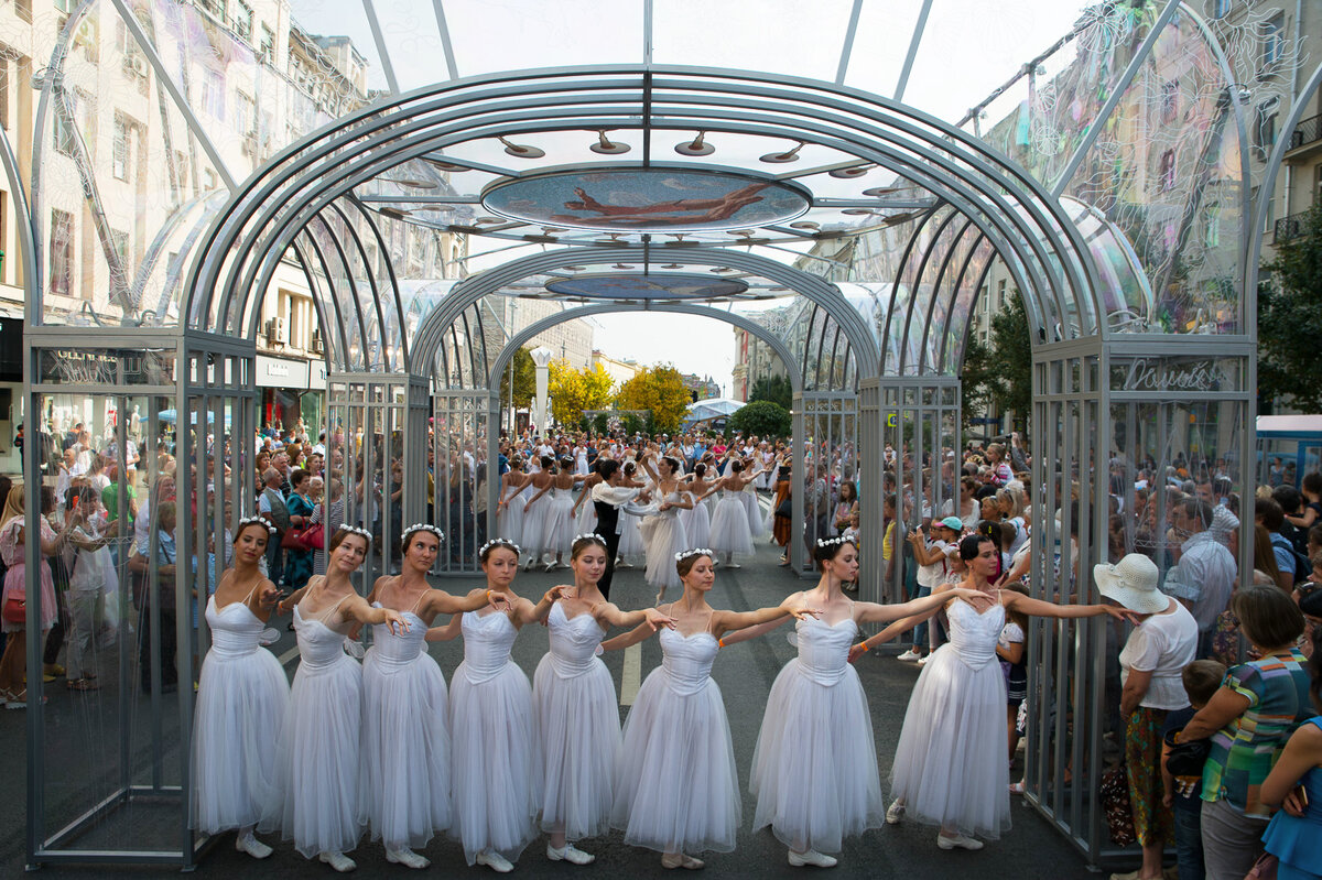
[[[652,670],[624,723],[611,826],[658,852],[731,852],[739,777],[720,688],[711,680],[717,638],[662,629]]]

